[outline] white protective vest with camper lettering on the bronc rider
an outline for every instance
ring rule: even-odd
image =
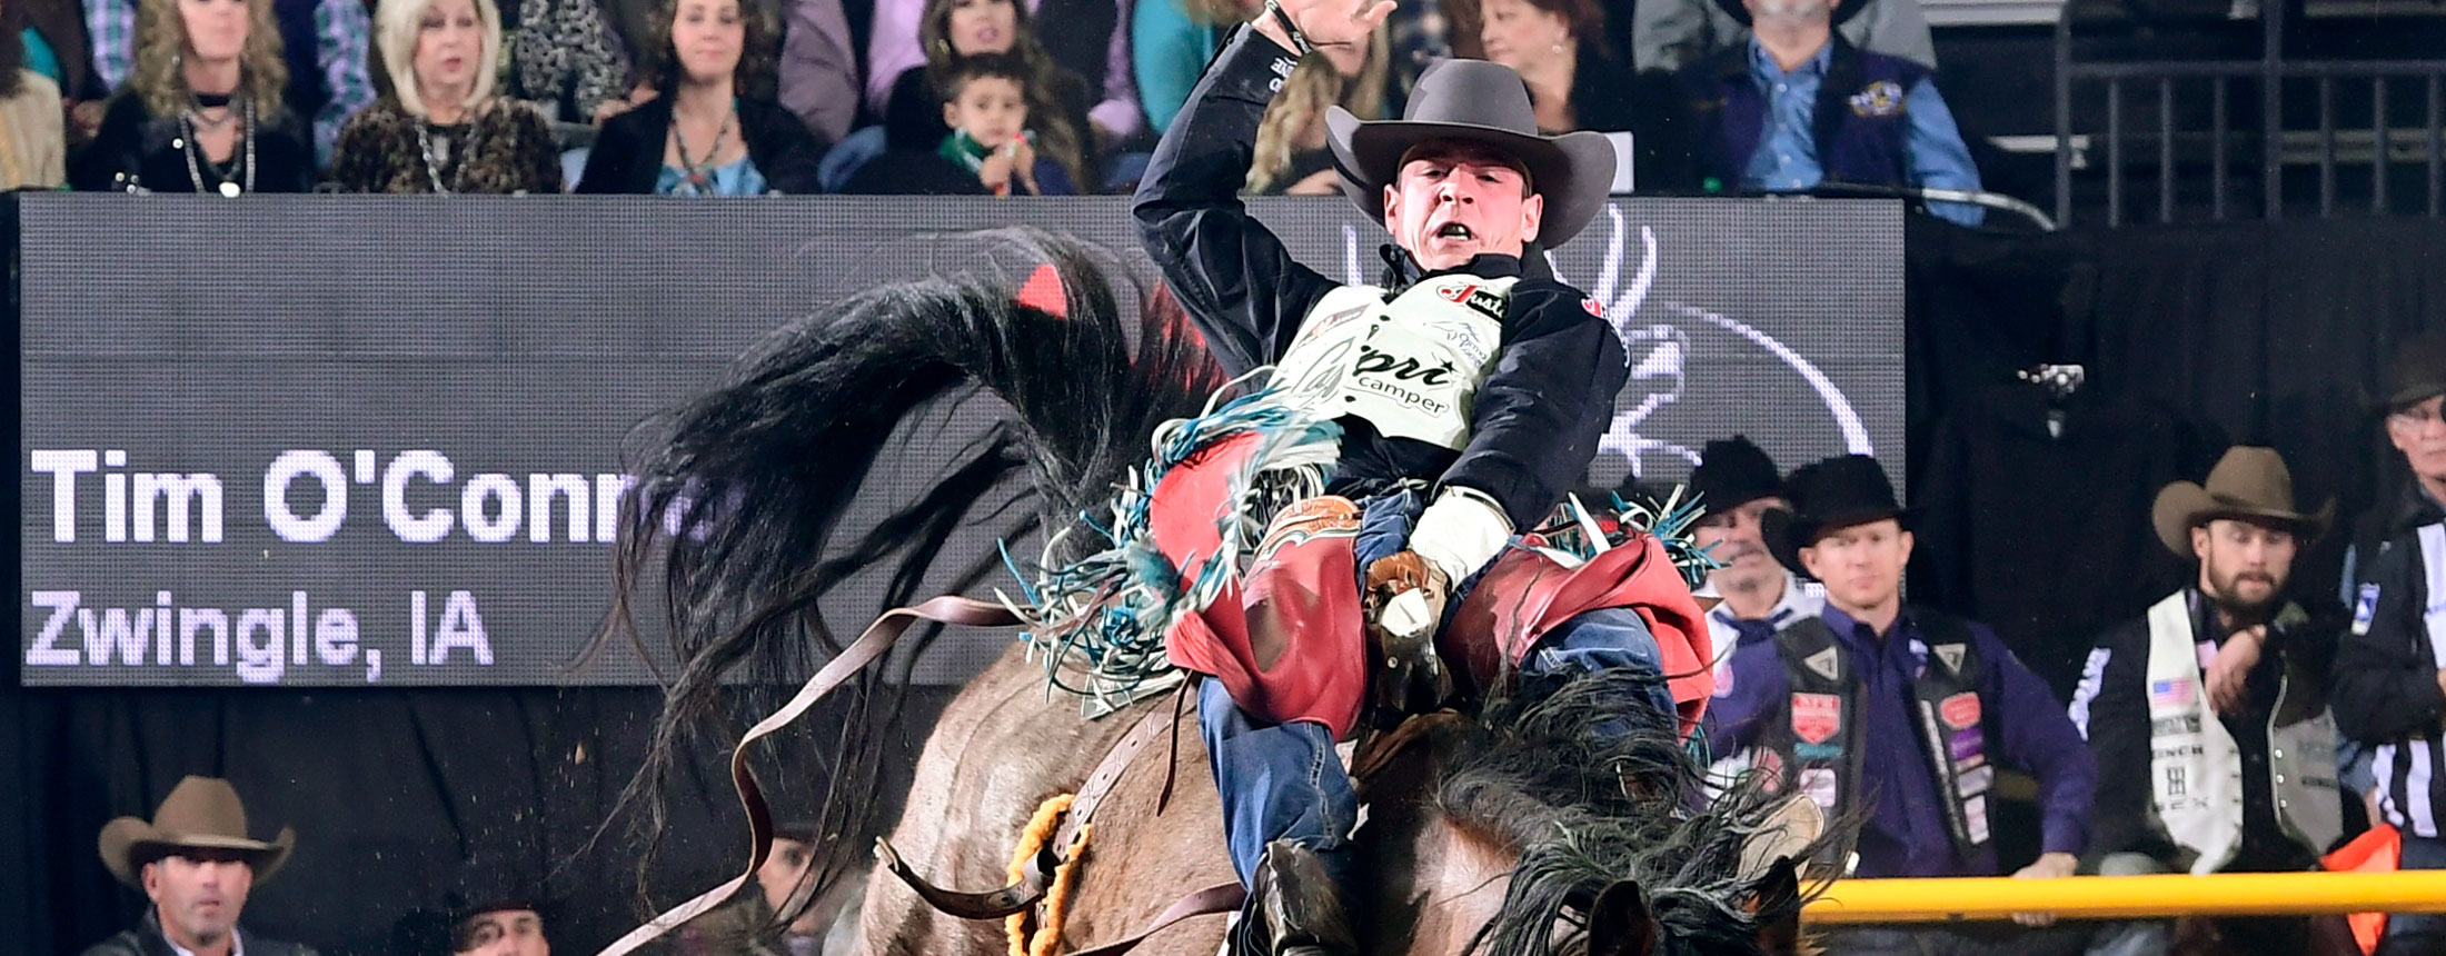
[[[1333,289],[1274,364],[1277,401],[1458,452],[1517,281],[1446,274],[1392,301],[1377,286]]]

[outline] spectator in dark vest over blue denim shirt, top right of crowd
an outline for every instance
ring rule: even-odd
[[[1754,34],[1680,71],[1707,191],[1825,181],[1979,191],[1979,169],[1920,64],[1835,34],[1832,0],[1742,0]],[[1830,130],[1817,127],[1830,117]],[[1979,225],[1967,203],[1930,213]]]

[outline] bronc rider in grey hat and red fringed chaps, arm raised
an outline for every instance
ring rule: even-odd
[[[1328,110],[1343,193],[1392,232],[1382,284],[1326,279],[1243,208],[1260,117],[1299,56],[1365,44],[1392,7],[1267,2],[1189,93],[1135,203],[1150,257],[1223,372],[1272,369],[1267,391],[1167,425],[1196,435],[1196,452],[1159,460],[1147,538],[1184,579],[1145,592],[1191,597],[1130,614],[1169,621],[1169,663],[1206,675],[1199,724],[1250,888],[1238,954],[1358,951],[1340,890],[1358,797],[1333,746],[1362,719],[1443,704],[1477,672],[1446,670],[1433,650],[1460,641],[1443,623],[1472,609],[1455,594],[1472,579],[1487,601],[1556,587],[1514,575],[1536,557],[1507,543],[1580,482],[1629,377],[1602,308],[1543,254],[1605,208],[1612,142],[1541,134],[1507,66],[1428,66],[1402,120]],[[1265,531],[1252,560],[1238,531],[1218,533],[1218,513]],[[1137,555],[1132,567],[1147,567]],[[1707,631],[1653,538],[1539,579],[1580,587],[1472,653],[1521,675],[1639,667],[1651,692],[1624,704],[1695,726]],[[1514,638],[1534,645],[1490,645]],[[1375,682],[1370,665],[1384,670]]]

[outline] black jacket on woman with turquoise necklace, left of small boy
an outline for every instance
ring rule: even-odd
[[[807,132],[807,122],[780,103],[739,98],[739,134],[748,144],[748,159],[766,176],[775,193],[819,193],[815,164],[824,159],[824,144]],[[604,122],[587,154],[587,171],[577,178],[580,193],[653,193],[653,178],[663,174],[663,142],[670,137],[670,93]]]

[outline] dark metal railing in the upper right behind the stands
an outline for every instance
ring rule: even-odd
[[[2446,205],[2446,59],[2419,59],[2419,61],[2287,61],[2285,59],[2285,15],[2272,10],[2275,0],[2263,7],[2263,49],[2260,59],[2250,61],[2135,61],[2135,64],[2079,64],[2072,59],[2072,17],[2057,17],[2055,22],[2055,220],[2069,225],[2074,208],[2074,154],[2082,152],[2082,134],[2072,127],[2074,110],[2074,83],[2104,83],[2106,93],[2106,117],[2104,130],[2084,130],[2094,142],[2104,142],[2106,149],[2106,225],[2123,225],[2126,220],[2126,139],[2145,137],[2145,130],[2126,134],[2126,100],[2128,88],[2155,90],[2155,117],[2157,130],[2155,166],[2157,166],[2157,222],[2177,220],[2177,203],[2182,176],[2177,169],[2184,161],[2197,161],[2206,154],[2209,161],[2209,218],[2228,220],[2233,218],[2233,154],[2238,144],[2255,137],[2258,142],[2258,181],[2260,181],[2260,215],[2267,220],[2285,218],[2287,203],[2287,166],[2319,166],[2319,215],[2336,215],[2338,208],[2338,166],[2370,169],[2370,210],[2373,213],[2397,213],[2395,196],[2390,196],[2395,169],[2400,164],[2426,166],[2426,203],[2409,205],[2407,210],[2426,208],[2426,215],[2441,215]],[[2069,5],[2067,5],[2069,10]],[[2209,127],[2184,127],[2177,122],[2177,88],[2197,86],[2206,81],[2209,86]],[[2316,130],[2287,130],[2285,125],[2285,93],[2287,81],[2309,81],[2316,88]],[[2348,81],[2370,88],[2370,125],[2368,130],[2338,130],[2336,127],[2336,86]],[[2233,88],[2238,83],[2258,86],[2258,125],[2255,130],[2233,130],[2233,120],[2248,117],[2248,112],[2233,110]],[[2395,115],[2404,112],[2395,108],[2392,95],[2400,88],[2414,90],[2419,95],[2419,122],[2414,127],[2400,127]],[[2143,100],[2145,103],[2145,100]]]

